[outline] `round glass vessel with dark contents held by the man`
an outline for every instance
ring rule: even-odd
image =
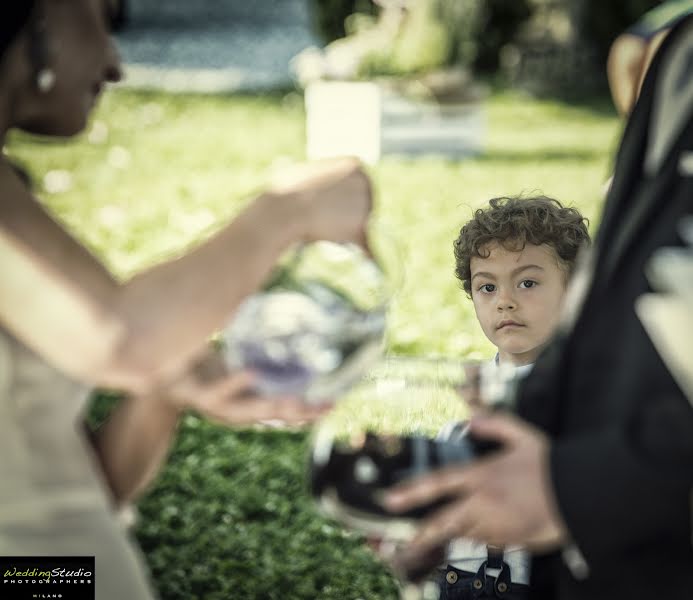
[[[491,362],[444,364],[399,359],[385,363],[382,372],[375,371],[362,382],[358,398],[363,404],[355,405],[357,412],[336,420],[335,429],[317,429],[310,458],[314,498],[323,512],[366,535],[407,539],[419,519],[450,499],[439,498],[405,512],[390,513],[380,502],[384,490],[443,467],[471,463],[497,451],[500,444],[476,439],[468,422],[459,420],[448,421],[436,437],[381,433],[388,431],[388,426],[393,427],[391,431],[402,431],[402,426],[396,419],[379,422],[377,417],[366,417],[373,419],[373,426],[359,429],[358,411],[369,415],[369,405],[377,408],[380,403],[388,417],[444,412],[464,399],[468,406],[512,412],[517,383],[517,369]],[[380,413],[375,410],[373,414]],[[356,426],[351,426],[353,423]]]

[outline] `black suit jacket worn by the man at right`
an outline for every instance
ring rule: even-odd
[[[655,90],[678,40],[693,41],[693,17],[666,38],[628,122],[575,326],[546,349],[521,390],[519,414],[551,435],[553,488],[590,569],[578,580],[560,555],[534,557],[532,598],[693,598],[693,408],[634,310],[652,291],[648,259],[682,245],[677,227],[693,213],[690,166],[680,166],[693,156],[690,94],[676,109],[685,118],[661,166],[644,170],[658,127]],[[693,85],[689,48],[679,91]]]

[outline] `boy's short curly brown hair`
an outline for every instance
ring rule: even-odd
[[[575,208],[564,207],[547,196],[501,197],[474,212],[453,246],[455,276],[471,296],[470,261],[488,258],[488,244],[497,242],[507,250],[522,250],[526,244],[546,244],[554,249],[566,273],[575,266],[578,250],[590,242],[588,221]]]

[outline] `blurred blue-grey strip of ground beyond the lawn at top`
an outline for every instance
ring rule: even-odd
[[[262,91],[292,84],[289,62],[319,45],[310,0],[128,0],[117,33],[123,85]]]

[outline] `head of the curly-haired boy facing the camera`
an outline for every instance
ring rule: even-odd
[[[454,243],[455,275],[474,303],[496,362],[532,364],[559,318],[586,219],[545,196],[493,198]]]

